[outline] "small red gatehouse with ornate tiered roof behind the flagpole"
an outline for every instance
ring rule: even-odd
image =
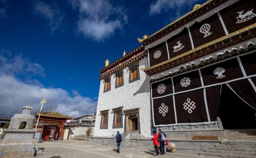
[[[38,119],[39,112],[35,112],[35,117]],[[37,133],[40,133],[40,139],[43,141],[49,140],[62,140],[64,125],[67,120],[72,117],[65,116],[59,112],[48,111],[41,112],[39,122],[44,125],[40,125],[37,128]]]

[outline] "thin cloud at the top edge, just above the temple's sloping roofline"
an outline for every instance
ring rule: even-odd
[[[150,14],[160,14],[162,11],[170,11],[170,16],[177,18],[181,16],[180,8],[191,9],[198,0],[157,0],[150,5]],[[173,18],[173,19],[174,19]]]

